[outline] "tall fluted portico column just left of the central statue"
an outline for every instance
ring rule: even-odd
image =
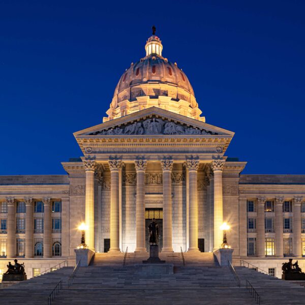
[[[135,160],[137,172],[137,201],[136,201],[136,252],[146,252],[145,248],[145,170],[146,160]]]

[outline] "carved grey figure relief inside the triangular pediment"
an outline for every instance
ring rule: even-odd
[[[94,132],[90,135],[217,135],[197,127],[186,126],[181,123],[174,123],[167,119],[157,117],[136,121],[126,127],[115,127],[108,130]]]

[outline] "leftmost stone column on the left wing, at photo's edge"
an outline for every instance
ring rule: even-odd
[[[7,220],[7,258],[16,257],[16,217],[15,199],[7,198],[8,220]]]

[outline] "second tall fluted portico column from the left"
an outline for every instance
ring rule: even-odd
[[[110,250],[120,252],[119,249],[119,184],[118,172],[122,168],[121,160],[109,160],[110,167]]]

